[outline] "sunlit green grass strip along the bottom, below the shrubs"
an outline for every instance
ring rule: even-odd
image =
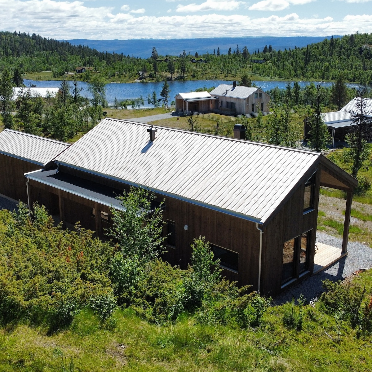
[[[370,288],[371,277],[369,270],[355,280]],[[53,334],[7,324],[0,328],[0,371],[372,370],[370,336],[358,339],[346,322],[337,324],[310,305],[303,309],[302,330],[291,329],[283,323],[288,305],[270,307],[263,324],[248,330],[200,325],[187,315],[160,326],[130,309],[116,310],[109,323],[82,311],[68,329]],[[330,337],[335,340],[339,329],[338,344]]]

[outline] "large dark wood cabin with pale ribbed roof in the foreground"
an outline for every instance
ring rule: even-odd
[[[235,129],[236,137],[244,137],[244,127]],[[267,296],[318,270],[314,256],[320,185],[347,191],[348,231],[357,181],[320,153],[156,130],[106,118],[56,155],[58,169],[26,174],[30,202],[44,203],[67,226],[80,221],[103,237],[112,224],[110,207],[123,208],[115,194],[130,186],[145,187],[157,195],[157,202],[165,199],[164,259],[186,268],[190,243],[205,236],[228,279]],[[12,147],[23,147],[22,136],[13,138]],[[34,149],[44,153],[37,145]],[[15,175],[9,167],[1,169],[5,179],[22,171]],[[343,254],[346,247],[347,233]]]

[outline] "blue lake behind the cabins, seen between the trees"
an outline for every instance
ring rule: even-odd
[[[59,87],[61,81],[49,80],[49,81],[35,81],[35,80],[24,80],[26,86],[31,86],[31,84],[36,85],[36,87]],[[71,84],[71,81],[68,81]],[[191,92],[198,88],[206,87],[217,87],[219,84],[232,84],[232,81],[226,80],[178,80],[178,81],[169,81],[171,93],[170,101],[174,100],[174,97],[178,93]],[[279,89],[285,89],[287,81],[254,81],[257,87],[260,87],[262,90],[267,91],[273,89],[276,86]],[[304,87],[310,84],[310,81],[299,81],[301,87]],[[293,85],[293,82],[291,82]],[[324,82],[324,81],[314,81],[314,84],[321,84],[324,87],[330,87],[333,83]],[[358,87],[358,84],[347,84],[349,87]],[[81,95],[84,97],[92,98],[92,94],[89,92],[89,84],[85,81],[79,81],[79,86],[83,88]],[[115,97],[120,102],[125,99],[133,99],[140,97],[142,95],[145,100],[145,107],[147,107],[147,94],[152,94],[155,90],[157,97],[160,98],[160,90],[163,87],[163,81],[159,82],[148,82],[148,83],[110,83],[106,84],[106,99],[109,105],[112,105]]]

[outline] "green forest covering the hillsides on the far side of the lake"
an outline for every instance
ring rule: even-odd
[[[0,71],[7,67],[22,72],[52,71],[54,77],[77,66],[93,67],[106,79],[112,77],[156,78],[169,68],[176,72],[175,78],[228,78],[241,76],[244,72],[268,78],[335,80],[340,72],[347,81],[368,84],[372,82],[372,33],[355,33],[342,38],[324,39],[305,48],[273,50],[265,46],[251,55],[246,47],[232,46],[225,54],[219,48],[212,53],[197,55],[207,63],[187,63],[194,54],[172,56],[178,58],[173,66],[155,62],[156,49],[147,59],[130,57],[115,52],[100,52],[67,41],[56,41],[42,36],[20,32],[0,32]],[[263,64],[251,59],[265,58]],[[89,76],[86,77],[89,80]]]

